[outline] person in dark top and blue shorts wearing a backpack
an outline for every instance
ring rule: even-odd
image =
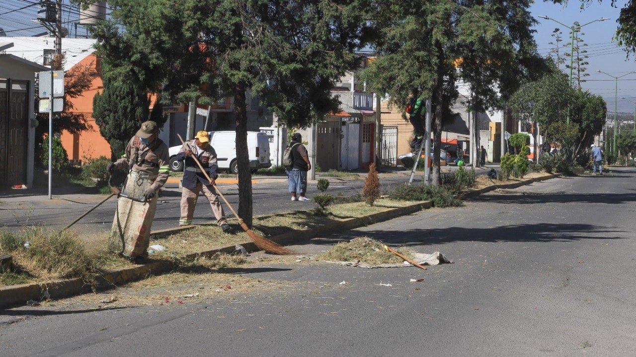
[[[307,148],[301,143],[302,138],[300,132],[294,132],[291,136],[289,146],[291,146],[293,164],[285,168],[287,171],[287,184],[289,185],[289,192],[293,201],[309,200],[305,197],[305,192],[307,192],[307,171],[312,168],[312,164],[309,162]]]

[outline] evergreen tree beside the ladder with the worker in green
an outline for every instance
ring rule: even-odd
[[[432,98],[432,182],[441,183],[441,129],[457,98],[459,78],[473,95],[471,111],[501,108],[520,78],[537,71],[530,1],[403,1],[375,3],[378,59],[363,74],[377,93],[404,108],[410,97]]]

